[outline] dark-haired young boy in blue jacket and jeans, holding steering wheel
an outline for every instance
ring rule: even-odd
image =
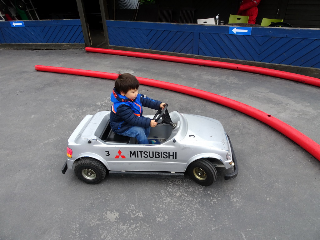
[[[163,109],[165,103],[140,95],[138,89],[139,81],[135,76],[119,74],[111,93],[110,126],[117,134],[135,137],[139,144],[148,144],[150,127],[155,127],[157,123],[142,116],[142,106],[158,110]]]

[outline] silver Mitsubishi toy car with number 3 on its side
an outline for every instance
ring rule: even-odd
[[[226,171],[234,168],[225,173],[226,180],[235,178],[236,157],[222,124],[178,111],[169,114],[167,107],[154,117],[147,116],[158,122],[148,137],[154,144],[137,144],[135,138],[114,133],[109,111],[85,116],[68,140],[62,173],[75,164],[76,176],[89,184],[100,183],[112,173],[188,173],[196,183],[209,186],[217,178],[216,168],[223,167]]]

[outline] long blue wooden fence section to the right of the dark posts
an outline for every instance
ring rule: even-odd
[[[107,20],[107,27],[110,45],[320,68],[317,28],[252,27],[243,35],[226,25]]]

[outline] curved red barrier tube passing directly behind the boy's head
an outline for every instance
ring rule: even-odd
[[[118,77],[118,74],[115,74],[115,73],[105,73],[105,72],[75,69],[75,68],[61,68],[61,67],[36,65],[35,69],[37,71],[100,77],[100,78],[106,78],[106,79],[112,79],[112,80],[115,80]],[[296,142],[298,145],[300,145],[302,148],[304,148],[312,156],[314,156],[316,159],[320,161],[320,145],[318,143],[316,143],[314,140],[310,139],[303,133],[299,132],[292,126],[284,123],[283,121],[271,115],[268,115],[265,112],[260,111],[259,109],[253,108],[242,102],[238,102],[236,100],[232,100],[232,99],[214,94],[212,92],[206,92],[206,91],[199,90],[192,87],[187,87],[187,86],[168,83],[168,82],[162,82],[159,80],[148,79],[143,77],[137,77],[137,79],[139,80],[140,84],[143,84],[143,85],[163,88],[163,89],[167,89],[175,92],[181,92],[191,96],[216,102],[226,107],[242,112],[248,116],[256,118],[257,120],[265,124],[268,124],[269,126],[273,127],[277,131],[281,132],[282,134],[290,138],[292,141]]]

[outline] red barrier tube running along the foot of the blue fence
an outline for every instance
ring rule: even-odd
[[[217,67],[217,68],[226,68],[226,69],[252,72],[252,73],[284,78],[284,79],[320,87],[319,78],[304,76],[296,73],[284,72],[284,71],[269,69],[269,68],[261,68],[261,67],[248,66],[248,65],[236,64],[236,63],[229,63],[229,62],[219,62],[219,61],[212,61],[212,60],[193,59],[193,58],[175,57],[175,56],[167,56],[167,55],[153,54],[153,53],[130,52],[130,51],[93,48],[93,47],[86,47],[85,51],[114,54],[114,55],[121,55],[121,56],[128,56],[128,57],[138,57],[138,58],[148,58],[148,59],[155,59],[155,60],[180,62],[180,63],[189,63],[189,64],[203,65],[203,66],[210,66],[210,67]]]

